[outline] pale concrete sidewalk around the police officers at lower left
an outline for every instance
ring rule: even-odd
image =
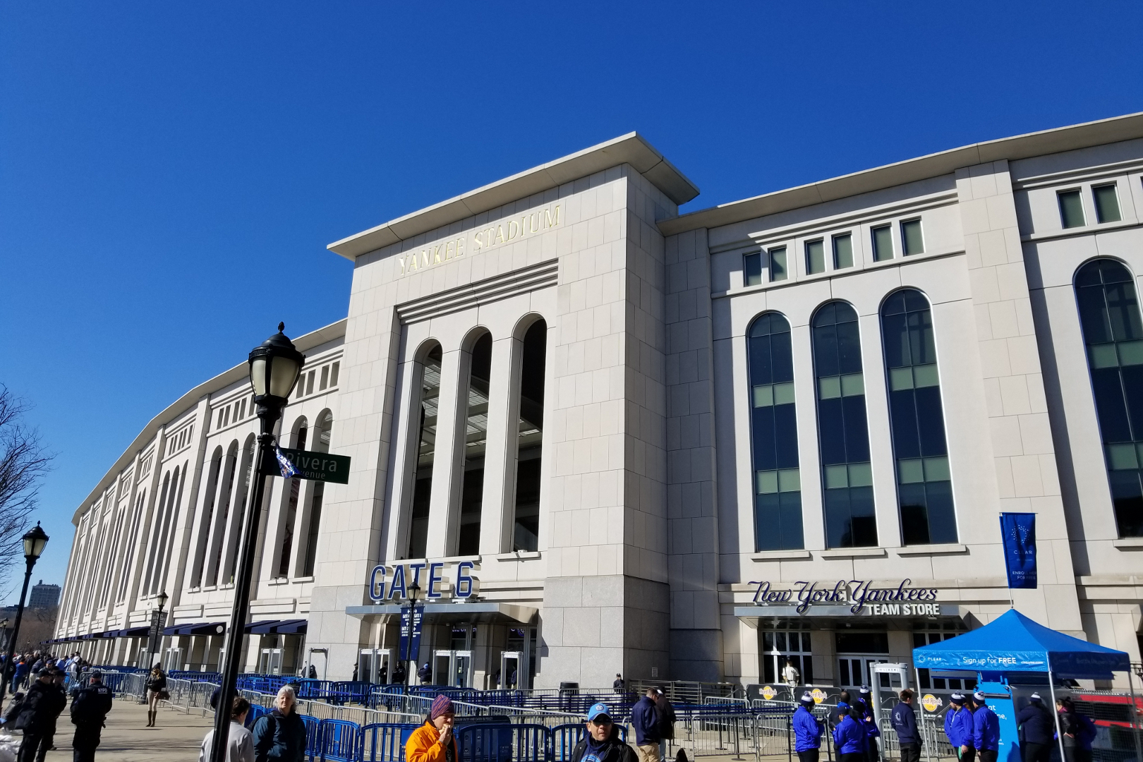
[[[103,729],[96,760],[107,762],[198,762],[199,746],[210,731],[214,715],[202,716],[198,709],[184,714],[176,709],[159,709],[154,728],[146,725],[146,705],[131,698],[117,698]],[[59,715],[56,751],[48,752],[46,762],[70,762],[71,739],[75,730],[67,711]],[[18,735],[18,733],[16,733]]]

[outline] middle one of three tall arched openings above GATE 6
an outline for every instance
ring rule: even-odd
[[[469,404],[464,426],[464,476],[456,553],[480,552],[480,510],[485,495],[485,449],[488,444],[488,378],[493,366],[493,336],[483,334],[472,345]]]

